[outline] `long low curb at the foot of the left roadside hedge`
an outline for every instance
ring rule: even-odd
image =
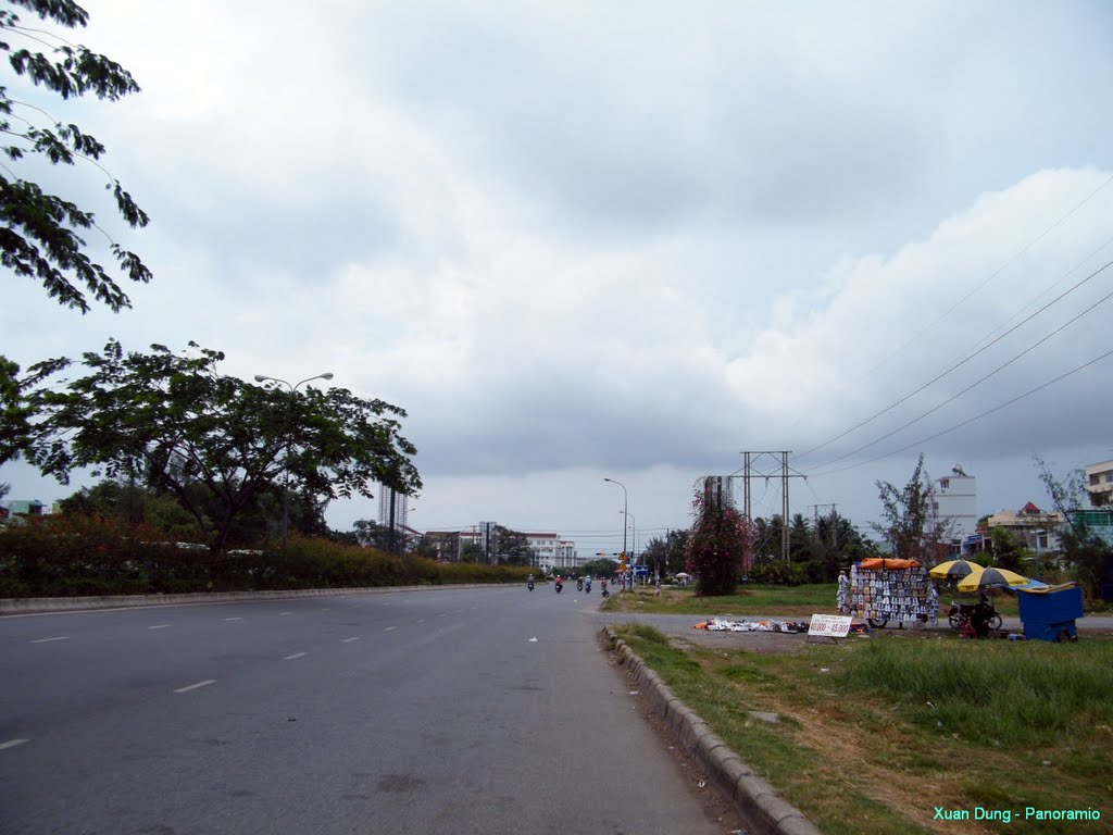
[[[0,617],[46,615],[98,609],[135,609],[145,606],[199,606],[262,600],[293,600],[306,597],[349,597],[352,595],[392,595],[402,591],[434,589],[481,589],[512,583],[459,583],[442,586],[375,586],[357,589],[283,589],[280,591],[200,591],[186,595],[105,595],[102,597],[0,598]]]

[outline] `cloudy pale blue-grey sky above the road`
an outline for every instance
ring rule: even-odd
[[[791,513],[867,531],[920,454],[978,514],[1048,504],[1035,454],[1113,459],[1104,0],[82,4],[66,37],[140,94],[2,84],[107,146],[144,230],[92,166],[36,176],[155,278],[82,316],[7,275],[21,365],[115,337],[332,372],[407,412],[412,527],[581,556],[620,550],[624,508],[640,546],[689,527],[745,451],[790,452]]]

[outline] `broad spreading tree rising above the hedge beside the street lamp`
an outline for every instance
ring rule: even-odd
[[[214,551],[228,543],[237,518],[279,489],[299,502],[312,498],[318,514],[338,497],[373,498],[374,482],[420,489],[410,461],[416,450],[395,420],[403,410],[346,389],[252,385],[217,373],[223,353],[190,350],[126,354],[114,340],[101,354],[86,353],[86,376],[29,394],[28,459],[62,483],[80,466],[141,479],[174,497]]]

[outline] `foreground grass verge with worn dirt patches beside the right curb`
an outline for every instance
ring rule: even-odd
[[[1113,641],[878,633],[769,655],[681,649],[644,626],[617,631],[824,833],[1001,826],[943,825],[935,806],[1095,807],[1102,821],[1014,817],[1005,831],[1113,832]]]

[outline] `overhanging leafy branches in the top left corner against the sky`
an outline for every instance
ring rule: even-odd
[[[9,3],[67,29],[88,22],[86,11],[72,0],[9,0]],[[50,32],[27,28],[11,10],[0,11],[0,50],[9,53],[9,65],[17,76],[58,94],[63,100],[91,92],[101,100],[117,101],[139,91],[131,75],[115,61]],[[52,57],[26,46],[16,48],[13,45],[20,41],[32,49],[46,42],[53,47]],[[104,234],[122,273],[131,281],[146,283],[151,274],[139,256],[112,240],[92,212],[43,191],[36,183],[13,173],[21,163],[33,167],[36,159],[68,166],[86,160],[108,177],[106,187],[111,190],[124,220],[132,228],[144,227],[147,214],[98,161],[105,146],[77,125],[63,124],[29,101],[11,98],[7,86],[0,87],[0,132],[7,139],[0,148],[7,157],[0,166],[0,220],[3,222],[0,264],[16,275],[38,279],[66,307],[87,313],[86,292],[114,312],[130,307],[124,289],[90,257],[81,234],[88,229]]]

